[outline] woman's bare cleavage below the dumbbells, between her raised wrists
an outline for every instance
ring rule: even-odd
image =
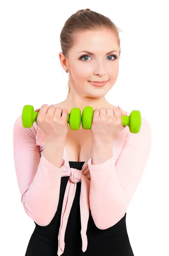
[[[92,135],[90,130],[68,130],[65,149],[68,161],[85,162],[92,154]]]

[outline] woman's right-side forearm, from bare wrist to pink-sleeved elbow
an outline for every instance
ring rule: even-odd
[[[119,215],[124,214],[124,196],[118,183],[112,157],[112,141],[93,143],[92,165],[99,165],[107,160],[112,163],[97,171],[90,170],[90,209],[93,220],[100,229],[113,226],[119,219]]]

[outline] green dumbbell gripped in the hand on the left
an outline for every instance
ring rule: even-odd
[[[22,124],[25,128],[31,128],[33,123],[37,121],[39,112],[34,111],[32,105],[25,105],[22,112]],[[71,130],[79,130],[81,125],[81,110],[80,108],[72,108],[67,116],[67,122]]]

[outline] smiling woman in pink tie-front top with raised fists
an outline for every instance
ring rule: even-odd
[[[14,124],[21,201],[36,225],[25,256],[133,256],[126,211],[146,167],[151,129],[142,118],[139,133],[130,133],[121,121],[130,113],[105,99],[118,77],[118,29],[109,18],[80,10],[60,41],[67,98],[36,110],[31,128],[23,128],[21,116]],[[91,129],[70,130],[68,113],[85,106],[94,110]]]

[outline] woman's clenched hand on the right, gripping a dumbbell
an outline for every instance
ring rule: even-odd
[[[96,108],[93,111],[92,125],[90,128],[94,140],[109,142],[115,134],[120,133],[126,126],[122,125],[121,116],[127,112],[120,108]]]

